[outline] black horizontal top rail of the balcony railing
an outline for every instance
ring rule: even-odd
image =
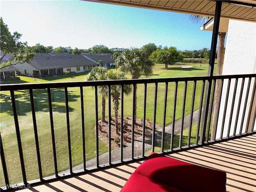
[[[23,90],[23,89],[44,89],[44,88],[63,88],[80,86],[104,86],[104,85],[123,85],[123,84],[142,84],[142,83],[162,83],[162,82],[182,82],[197,80],[216,80],[229,78],[256,78],[256,74],[222,75],[222,76],[195,76],[178,78],[144,78],[144,79],[124,79],[124,80],[100,80],[100,81],[79,81],[79,82],[56,82],[56,83],[31,83],[31,84],[2,84],[1,91]]]

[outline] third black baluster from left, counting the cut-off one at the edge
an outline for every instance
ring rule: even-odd
[[[39,172],[40,181],[42,181],[43,180],[42,164],[41,164],[41,157],[40,157],[38,133],[37,133],[37,126],[36,126],[36,112],[35,112],[34,97],[33,97],[33,90],[32,89],[29,90],[29,94],[30,94],[30,104],[31,104],[33,126],[34,126],[34,136],[35,136],[35,143],[36,143],[36,155],[37,155],[37,162],[38,162],[38,172]]]

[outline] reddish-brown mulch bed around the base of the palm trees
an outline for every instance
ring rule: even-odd
[[[105,122],[101,120],[98,121],[98,132],[99,138],[108,144],[108,118],[105,119]],[[120,147],[120,117],[118,117],[119,131],[116,134],[116,126],[114,117],[111,118],[111,146],[114,148]],[[140,138],[142,136],[142,125],[143,120],[136,118],[136,124],[134,126],[134,139]],[[145,124],[145,134],[152,134],[153,122],[146,120]],[[96,126],[94,126],[94,131]],[[130,143],[132,140],[132,117],[124,116],[124,136],[123,136],[123,145]]]

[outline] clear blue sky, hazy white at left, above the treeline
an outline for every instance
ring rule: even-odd
[[[187,14],[85,1],[0,0],[0,16],[10,32],[33,46],[88,49],[140,48],[145,44],[179,50],[210,48],[212,32],[200,31]]]

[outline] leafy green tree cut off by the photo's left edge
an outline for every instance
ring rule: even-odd
[[[28,46],[27,42],[23,43],[19,41],[22,34],[14,32],[12,35],[2,17],[0,18],[0,29],[0,51],[2,53],[0,64],[2,64],[2,60],[7,53],[11,53],[14,56],[16,64],[24,62],[30,63],[34,58],[34,54],[26,50],[26,47]],[[1,68],[10,64],[10,61],[2,64]]]

